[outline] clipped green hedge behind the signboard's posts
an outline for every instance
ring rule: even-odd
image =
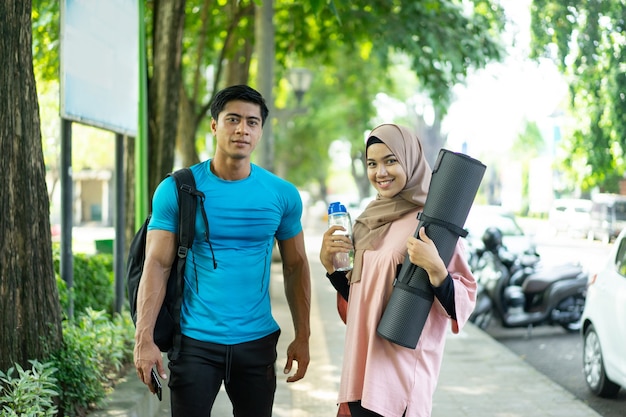
[[[70,291],[59,275],[61,252],[58,244],[53,246],[53,260],[61,308],[63,311],[68,311]],[[74,280],[71,294],[74,300],[74,311],[81,313],[91,308],[113,314],[115,303],[113,255],[75,253],[73,262]]]

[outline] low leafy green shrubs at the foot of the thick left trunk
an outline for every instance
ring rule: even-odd
[[[65,320],[63,346],[48,361],[0,372],[0,416],[84,416],[132,363],[133,336],[128,314],[111,319],[87,308],[76,320]]]

